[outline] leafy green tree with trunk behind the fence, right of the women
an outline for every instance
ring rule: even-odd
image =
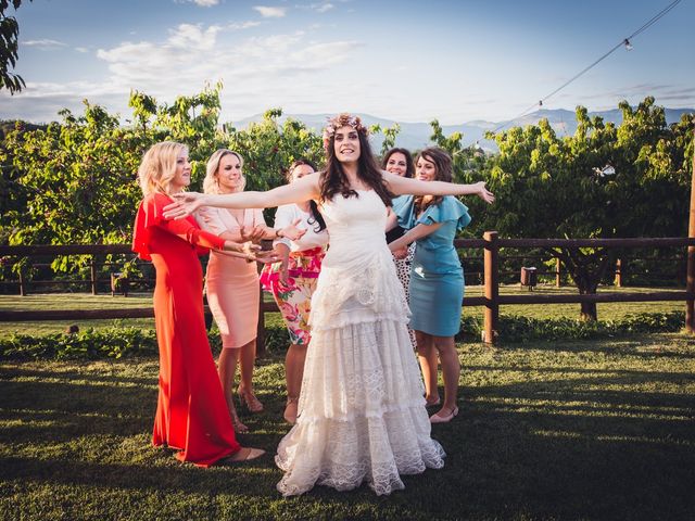
[[[505,237],[624,238],[682,236],[687,223],[693,122],[668,126],[646,98],[620,103],[619,127],[577,109],[573,136],[546,119],[489,135],[500,154],[489,166],[497,196],[485,227]],[[688,138],[690,137],[690,138]],[[581,294],[592,294],[615,260],[607,249],[553,249]],[[581,317],[596,319],[584,303]]]

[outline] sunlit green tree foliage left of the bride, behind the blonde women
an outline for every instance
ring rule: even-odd
[[[219,125],[222,85],[178,97],[172,105],[132,92],[132,125],[122,126],[103,107],[85,101],[85,112],[61,111],[62,120],[27,130],[17,123],[0,148],[3,183],[11,203],[0,217],[8,244],[110,244],[131,239],[141,192],[137,169],[144,151],[172,139],[190,147],[191,189],[202,188],[205,164],[219,148],[244,158],[248,190],[285,182],[282,170],[300,156],[319,161],[321,139],[302,123],[277,123],[280,110],[236,130]],[[85,268],[81,257],[56,259],[58,270]]]

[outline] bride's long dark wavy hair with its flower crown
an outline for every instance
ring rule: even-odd
[[[324,130],[324,150],[326,151],[326,170],[320,177],[321,201],[333,199],[337,193],[343,198],[358,196],[355,190],[350,188],[348,176],[343,170],[343,165],[336,157],[336,130],[341,127],[352,127],[357,131],[359,138],[359,157],[357,158],[357,177],[370,187],[383,201],[383,204],[391,206],[393,194],[389,191],[381,176],[381,168],[371,153],[367,128],[362,125],[359,117],[350,114],[340,114],[328,122]]]

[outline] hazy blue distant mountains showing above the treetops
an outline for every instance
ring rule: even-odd
[[[695,109],[665,109],[666,111],[666,120],[668,124],[677,123],[681,119],[683,114],[690,113],[695,114]],[[304,123],[307,127],[320,131],[326,125],[326,119],[328,117],[333,116],[334,114],[283,114],[280,117],[280,122],[285,122],[288,117],[292,119],[300,120]],[[590,116],[601,116],[604,118],[604,122],[611,122],[616,125],[622,123],[622,112],[619,109],[614,109],[610,111],[603,112],[590,112]],[[396,122],[393,119],[384,119],[381,117],[372,116],[369,114],[359,114],[362,120],[366,125],[375,125],[379,124],[383,127],[391,127]],[[558,136],[571,136],[577,130],[577,120],[574,119],[574,112],[566,111],[564,109],[556,110],[540,110],[535,111],[531,114],[528,114],[521,118],[511,119],[509,122],[485,122],[485,120],[472,120],[463,123],[460,125],[443,125],[442,129],[445,136],[448,136],[453,132],[462,132],[464,136],[463,143],[465,145],[473,144],[476,141],[486,150],[493,151],[496,150],[495,144],[492,141],[488,141],[483,139],[484,134],[488,130],[494,130],[496,128],[506,129],[510,127],[517,126],[526,126],[526,125],[535,125],[542,118],[547,118],[551,123],[553,129],[557,132]],[[250,123],[257,123],[263,118],[262,114],[256,114],[254,116],[240,119],[238,122],[233,122],[233,126],[237,128],[245,128]],[[396,138],[396,145],[404,147],[410,150],[421,149],[427,147],[430,143],[430,136],[432,134],[432,128],[429,123],[402,123],[397,122],[401,125],[401,131]],[[376,151],[381,148],[381,139],[379,136],[376,136],[372,145]]]

